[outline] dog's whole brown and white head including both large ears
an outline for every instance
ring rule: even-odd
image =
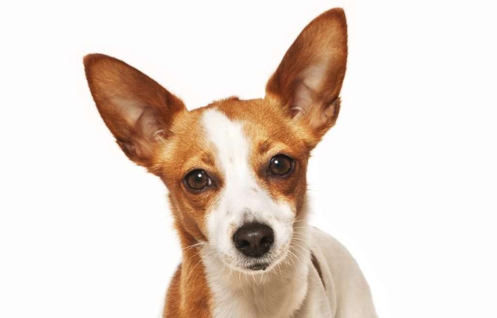
[[[341,9],[313,20],[266,85],[264,99],[192,111],[114,58],[84,59],[97,108],[124,153],[169,190],[184,245],[208,241],[224,264],[271,268],[302,217],[310,151],[334,125],[347,56]]]

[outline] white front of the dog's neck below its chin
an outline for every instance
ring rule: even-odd
[[[290,317],[301,306],[307,293],[311,254],[307,221],[295,224],[287,256],[261,273],[232,269],[208,243],[201,248],[213,317]]]

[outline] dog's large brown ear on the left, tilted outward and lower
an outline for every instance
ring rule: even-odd
[[[84,71],[100,116],[129,159],[149,166],[183,102],[155,80],[103,54],[84,57]]]

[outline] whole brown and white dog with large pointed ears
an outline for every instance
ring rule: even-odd
[[[308,159],[335,124],[346,60],[345,14],[334,8],[300,33],[264,98],[188,111],[124,62],[84,57],[117,144],[168,189],[183,259],[163,317],[376,317],[355,260],[307,222]]]

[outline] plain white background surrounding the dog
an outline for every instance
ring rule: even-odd
[[[492,1],[237,2],[1,5],[0,317],[156,317],[180,260],[165,188],[114,143],[83,55],[190,109],[261,97],[334,6],[350,53],[310,162],[311,223],[356,257],[380,317],[497,317]]]

